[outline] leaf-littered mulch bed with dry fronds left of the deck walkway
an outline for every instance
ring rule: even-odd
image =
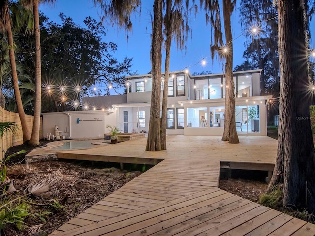
[[[30,151],[32,148],[15,146],[8,153],[21,149]],[[22,229],[18,230],[16,224],[9,222],[6,226],[0,223],[0,227],[5,228],[2,231],[5,236],[46,236],[142,173],[121,171],[99,162],[44,161],[25,164],[24,155],[12,158],[7,167],[7,177],[13,180],[17,192],[11,196],[0,196],[0,206],[15,200],[0,209],[0,222],[3,222],[4,210],[7,210],[16,214],[15,220],[21,220]],[[24,196],[28,184],[44,179],[56,179],[52,191]],[[27,207],[20,203],[26,203]],[[21,215],[25,216],[19,218]]]

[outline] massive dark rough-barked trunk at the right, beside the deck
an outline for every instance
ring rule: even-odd
[[[305,16],[303,1],[278,0],[279,141],[268,190],[279,187],[282,204],[314,212],[315,158]]]

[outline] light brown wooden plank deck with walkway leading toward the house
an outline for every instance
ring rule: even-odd
[[[220,139],[168,136],[168,150],[162,152],[144,151],[143,138],[58,153],[58,158],[158,164],[51,235],[314,236],[315,225],[217,187],[220,161],[258,169],[274,165],[277,141],[241,136],[240,144],[228,144]]]

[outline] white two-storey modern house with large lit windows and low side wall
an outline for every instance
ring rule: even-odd
[[[267,104],[260,95],[261,70],[234,72],[235,117],[239,135],[267,135]],[[222,135],[224,129],[224,74],[192,76],[188,71],[170,73],[168,79],[167,134]],[[163,90],[162,78],[161,90]],[[71,138],[97,138],[116,125],[124,133],[148,132],[152,75],[126,77],[127,94],[83,98],[89,110],[44,113],[44,134],[53,132],[46,123],[67,120],[61,130]],[[56,117],[54,117],[56,116]],[[67,117],[67,118],[66,118]],[[66,118],[66,119],[65,119]],[[45,122],[45,120],[47,122]],[[50,120],[50,121],[48,121]],[[59,122],[59,121],[58,121]]]

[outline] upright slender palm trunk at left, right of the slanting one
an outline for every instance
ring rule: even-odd
[[[32,136],[29,144],[36,146],[39,144],[40,110],[41,110],[41,55],[40,55],[40,31],[39,31],[39,0],[33,1],[34,25],[35,25],[35,104]]]

